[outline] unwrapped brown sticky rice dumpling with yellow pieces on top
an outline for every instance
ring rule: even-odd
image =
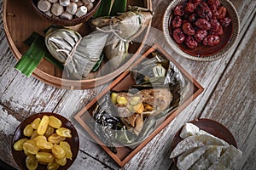
[[[111,97],[121,122],[137,136],[146,117],[159,115],[172,102],[172,94],[167,88],[147,88],[136,94],[113,93]]]

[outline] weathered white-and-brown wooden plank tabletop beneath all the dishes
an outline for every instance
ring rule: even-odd
[[[2,2],[1,7],[2,7]],[[161,33],[164,8],[170,1],[153,1],[154,19],[148,44],[160,42],[195,79],[204,92],[177,118],[163,129],[143,150],[129,161],[124,169],[168,169],[174,133],[184,122],[207,117],[223,123],[234,134],[238,147],[244,153],[237,169],[255,169],[256,89],[255,89],[255,8],[254,0],[231,0],[241,20],[239,43],[223,59],[197,62],[175,54]],[[1,8],[2,12],[2,8]],[[90,90],[63,90],[53,88],[37,79],[24,77],[13,68],[16,60],[0,25],[0,159],[16,167],[10,154],[10,141],[15,127],[26,116],[40,111],[53,111],[72,119],[104,86]],[[242,78],[241,78],[242,77]],[[72,119],[73,120],[73,119]],[[74,122],[75,123],[75,122]],[[91,142],[84,130],[79,129],[80,151],[70,169],[118,169],[117,164]]]

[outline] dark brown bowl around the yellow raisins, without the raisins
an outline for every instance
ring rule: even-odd
[[[61,127],[67,127],[71,130],[72,138],[67,138],[65,141],[67,141],[68,144],[71,146],[71,150],[73,153],[72,160],[67,159],[67,164],[65,166],[61,166],[59,169],[64,170],[70,167],[73,164],[73,161],[75,161],[76,157],[79,153],[79,134],[77,133],[77,130],[75,127],[73,127],[73,124],[67,120],[64,116],[61,116],[56,113],[49,113],[49,112],[43,112],[34,114],[32,116],[27,117],[23,122],[20,123],[20,125],[16,128],[13,139],[12,139],[12,155],[14,157],[15,162],[20,167],[20,169],[27,169],[26,168],[26,155],[24,154],[24,151],[17,151],[14,149],[13,145],[15,142],[19,139],[28,138],[23,135],[23,129],[26,127],[26,125],[32,123],[32,121],[38,117],[42,118],[43,116],[55,116],[56,118],[60,119],[62,122]],[[38,163],[37,169],[46,169],[46,166],[41,165]]]

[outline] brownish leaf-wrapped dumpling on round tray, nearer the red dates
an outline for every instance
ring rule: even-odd
[[[143,32],[152,16],[151,12],[137,9],[115,17],[90,20],[89,24],[93,30],[111,33],[103,52],[114,70],[124,63],[128,56],[129,42]]]

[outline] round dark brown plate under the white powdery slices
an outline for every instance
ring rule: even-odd
[[[218,137],[219,139],[223,139],[228,144],[232,144],[237,148],[236,139],[234,138],[233,134],[230,133],[230,130],[227,127],[224,127],[223,124],[213,121],[211,119],[198,119],[191,121],[191,123],[195,124],[195,126],[199,127],[201,130],[206,131],[207,133],[211,133],[213,136]],[[172,140],[172,150],[176,147],[176,145],[182,141],[183,139],[179,136],[181,131],[181,127],[174,136]],[[173,158],[174,163],[177,163],[177,157]]]

